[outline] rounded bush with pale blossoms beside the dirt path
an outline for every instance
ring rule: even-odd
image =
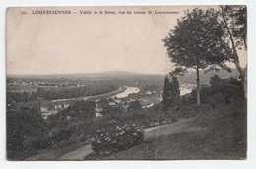
[[[136,125],[127,124],[114,130],[100,130],[92,141],[92,149],[100,155],[128,149],[143,141],[143,131]]]

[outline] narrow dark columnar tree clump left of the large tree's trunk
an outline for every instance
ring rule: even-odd
[[[170,106],[175,105],[180,100],[179,82],[177,77],[171,74],[171,81],[166,76],[163,89],[163,110],[167,110]]]

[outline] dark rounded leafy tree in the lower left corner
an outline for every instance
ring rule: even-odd
[[[36,151],[36,141],[42,139],[46,126],[36,109],[22,107],[7,112],[7,156]]]

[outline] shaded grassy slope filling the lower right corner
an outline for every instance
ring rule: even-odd
[[[246,103],[235,103],[198,115],[197,131],[160,136],[104,159],[244,159]]]

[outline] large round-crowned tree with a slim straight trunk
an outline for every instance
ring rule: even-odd
[[[163,39],[174,71],[184,72],[187,68],[197,72],[197,104],[200,104],[199,70],[211,65],[226,68],[225,61],[231,53],[224,40],[224,25],[219,23],[219,14],[213,10],[194,9],[186,11],[177,21],[174,30]]]

